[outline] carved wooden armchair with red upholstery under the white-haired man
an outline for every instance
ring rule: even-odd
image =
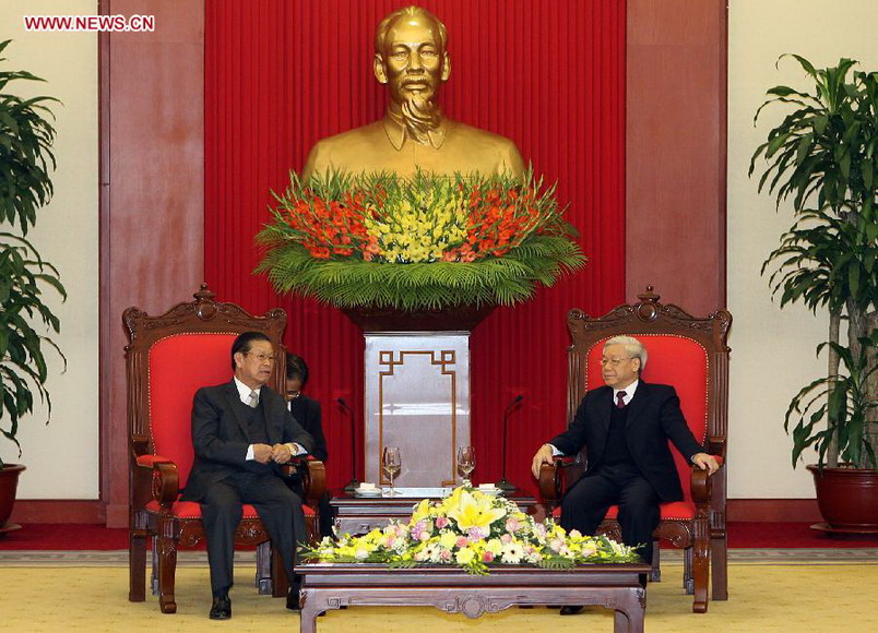
[[[604,341],[627,334],[646,347],[649,362],[645,380],[676,387],[687,423],[704,451],[725,458],[728,409],[728,347],[726,338],[732,315],[725,310],[699,319],[680,308],[658,302],[658,295],[646,287],[640,301],[616,308],[592,319],[581,310],[567,316],[572,345],[569,350],[568,419],[572,420],[585,392],[604,384],[601,355]],[[685,550],[684,586],[695,594],[692,610],[708,610],[708,584],[712,576],[714,600],[728,599],[726,563],[726,465],[712,476],[692,468],[672,449],[685,500],[661,505],[661,523],[653,537],[671,541]],[[584,451],[583,451],[584,453]],[[588,455],[576,459],[558,458],[544,465],[539,474],[539,491],[550,510],[557,505],[566,485],[582,473]],[[687,488],[686,482],[689,482]],[[613,506],[598,532],[620,539]],[[660,549],[653,548],[652,580],[661,578]]]

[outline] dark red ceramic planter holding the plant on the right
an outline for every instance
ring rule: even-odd
[[[835,532],[878,534],[878,470],[809,465],[820,514]]]

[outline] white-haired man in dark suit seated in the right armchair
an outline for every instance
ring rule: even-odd
[[[646,350],[637,338],[608,339],[601,359],[606,385],[585,394],[573,422],[539,447],[532,469],[538,477],[539,467],[553,456],[576,455],[588,446],[588,468],[561,499],[561,527],[594,534],[609,506],[618,504],[622,541],[640,546],[640,556],[649,562],[652,533],[661,518],[658,503],[683,500],[667,441],[711,474],[719,464],[689,430],[674,387],[640,379],[645,365]],[[581,609],[563,607],[561,614]]]

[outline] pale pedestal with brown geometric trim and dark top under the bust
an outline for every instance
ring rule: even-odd
[[[471,443],[470,330],[493,309],[346,311],[366,339],[365,481],[390,485],[381,453],[399,446],[395,485],[460,483],[456,450]]]

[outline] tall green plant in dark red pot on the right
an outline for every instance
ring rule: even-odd
[[[791,57],[814,92],[780,85],[762,108],[786,108],[754,153],[759,191],[792,199],[795,222],[762,265],[783,308],[803,301],[827,310],[827,374],[805,385],[787,409],[793,466],[818,453],[817,500],[827,529],[878,533],[878,72],[856,61],[816,69]],[[780,60],[779,60],[780,61]],[[841,325],[846,323],[846,336]],[[791,431],[792,428],[792,431]]]

